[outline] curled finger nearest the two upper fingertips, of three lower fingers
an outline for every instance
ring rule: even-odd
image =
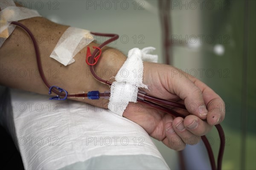
[[[212,125],[209,125],[206,121],[195,115],[186,116],[184,126],[195,136],[203,136],[212,129]]]

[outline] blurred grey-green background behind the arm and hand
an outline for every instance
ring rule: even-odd
[[[29,5],[27,1],[18,1],[23,6]],[[119,40],[111,46],[124,54],[134,47],[154,46],[159,62],[165,61],[163,38],[166,35],[163,35],[160,19],[163,9],[159,9],[157,0],[119,0],[116,6],[117,1],[111,0],[108,3],[100,0],[41,2],[43,7],[41,3],[38,6],[32,3],[31,8],[52,21],[90,31],[119,34]],[[172,65],[201,79],[226,103],[226,118],[221,124],[226,134],[223,169],[255,170],[255,1],[172,0],[169,9]],[[96,40],[103,41],[100,37]],[[212,139],[217,156],[217,131],[213,129],[207,137]],[[177,153],[161,142],[154,142],[169,167],[177,169]],[[206,153],[203,154],[208,161]]]

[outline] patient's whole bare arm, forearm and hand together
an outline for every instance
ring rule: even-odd
[[[68,28],[67,26],[52,23],[42,17],[34,17],[19,21],[28,27],[34,36],[40,35],[43,41],[38,44],[44,74],[50,85],[57,85],[67,90],[70,94],[79,91],[109,90],[107,85],[96,81],[90,74],[85,62],[86,48],[82,49],[74,59],[76,62],[63,66],[55,59],[49,57],[56,42]],[[24,41],[24,37],[25,41]],[[57,39],[56,39],[57,37]],[[41,40],[40,40],[41,41]],[[90,47],[96,44],[90,43]],[[90,48],[93,51],[93,48]],[[96,65],[96,70],[104,79],[110,80],[115,76],[117,69],[121,67],[126,57],[118,50],[105,47],[101,59]],[[111,71],[111,76],[103,74],[106,69]],[[143,83],[148,85],[147,93],[165,99],[185,102],[186,106],[196,104],[196,109],[187,107],[189,115],[185,119],[174,118],[166,113],[152,108],[143,107],[140,110],[138,104],[130,103],[123,116],[141,125],[152,137],[163,141],[168,147],[181,150],[185,144],[191,143],[197,136],[209,132],[212,125],[220,123],[224,119],[224,102],[212,89],[196,78],[186,77],[182,74],[172,76],[176,69],[170,65],[144,62]],[[35,50],[29,37],[21,28],[15,31],[0,48],[0,84],[11,88],[19,88],[40,94],[48,94],[48,88],[44,85],[38,73]],[[107,77],[105,77],[107,76]],[[84,99],[83,102],[97,106],[107,106],[106,99]],[[200,109],[200,105],[206,108]],[[203,119],[205,119],[203,121]],[[193,124],[193,123],[197,124]],[[180,130],[178,130],[180,128]],[[196,142],[199,142],[196,141]]]

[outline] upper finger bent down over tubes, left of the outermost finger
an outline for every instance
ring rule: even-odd
[[[172,72],[175,69],[172,69]],[[176,70],[177,71],[177,70]],[[169,75],[169,90],[184,100],[186,109],[201,119],[207,118],[207,108],[204,104],[202,91],[182,71],[179,74]],[[171,73],[170,73],[171,74]],[[173,91],[172,91],[173,89]]]

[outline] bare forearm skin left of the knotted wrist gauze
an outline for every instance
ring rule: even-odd
[[[35,37],[40,37],[38,43],[41,54],[42,68],[50,85],[57,85],[71,93],[79,91],[106,91],[107,85],[96,81],[90,74],[90,69],[85,62],[86,48],[83,48],[75,57],[74,63],[64,66],[49,57],[55,48],[58,39],[68,26],[52,23],[42,17],[34,17],[19,21],[29,28]],[[25,37],[25,40],[24,40]],[[71,42],[72,43],[72,42]],[[93,42],[89,44],[98,46]],[[40,77],[35,49],[26,32],[16,27],[15,31],[0,48],[0,84],[11,88],[19,88],[40,94],[47,94],[48,88]],[[116,49],[105,47],[102,49],[101,59],[96,65],[99,76],[110,80],[115,76],[116,70],[125,61],[125,56]],[[108,75],[104,71],[108,70]],[[111,75],[109,75],[109,72]],[[84,100],[84,102],[89,102]],[[101,100],[99,102],[102,102]]]

